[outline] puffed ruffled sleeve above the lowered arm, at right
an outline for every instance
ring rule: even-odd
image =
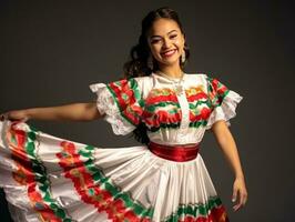
[[[206,129],[218,120],[225,120],[227,127],[231,125],[230,119],[236,115],[237,103],[243,97],[230,90],[225,84],[215,78],[206,77],[207,94],[211,103],[211,114],[207,119]]]

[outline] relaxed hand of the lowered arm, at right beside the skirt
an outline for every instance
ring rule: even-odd
[[[234,181],[233,198],[232,198],[233,202],[237,200],[237,194],[238,194],[238,203],[233,206],[234,211],[240,210],[242,206],[246,204],[247,201],[247,190],[243,178],[236,178]]]

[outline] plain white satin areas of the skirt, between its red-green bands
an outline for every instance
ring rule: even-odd
[[[26,123],[19,123],[19,129],[28,130]],[[1,134],[6,133],[0,122]],[[63,139],[39,132],[38,158],[47,168],[51,183],[52,195],[58,200],[73,221],[108,222],[105,212],[99,213],[93,205],[81,201],[70,179],[64,178],[63,170],[58,164],[57,153],[61,152]],[[38,214],[31,209],[27,198],[27,186],[18,184],[11,172],[18,167],[9,158],[10,149],[1,140],[0,153],[0,186],[6,188],[8,201],[13,204],[16,222],[39,221]],[[78,149],[85,144],[74,143]],[[145,208],[154,206],[153,221],[160,222],[177,210],[179,203],[206,203],[216,195],[207,169],[199,154],[187,162],[174,162],[154,155],[145,145],[129,148],[96,148],[95,165],[122,191],[131,193],[134,200]],[[8,162],[8,164],[3,164]],[[3,169],[3,167],[6,169]],[[20,210],[22,209],[22,210]],[[20,220],[18,220],[20,219]]]

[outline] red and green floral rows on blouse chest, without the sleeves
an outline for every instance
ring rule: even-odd
[[[202,85],[185,90],[190,107],[190,127],[205,125],[210,115],[210,102]],[[172,89],[153,89],[145,100],[143,120],[151,131],[160,128],[179,128],[182,111]]]

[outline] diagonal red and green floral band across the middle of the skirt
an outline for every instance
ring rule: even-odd
[[[94,164],[94,148],[88,145],[78,149],[74,143],[62,141],[62,152],[57,153],[59,164],[64,170],[64,176],[72,180],[81,199],[94,205],[99,212],[106,212],[113,221],[149,222],[153,209],[145,209],[122,192]]]

